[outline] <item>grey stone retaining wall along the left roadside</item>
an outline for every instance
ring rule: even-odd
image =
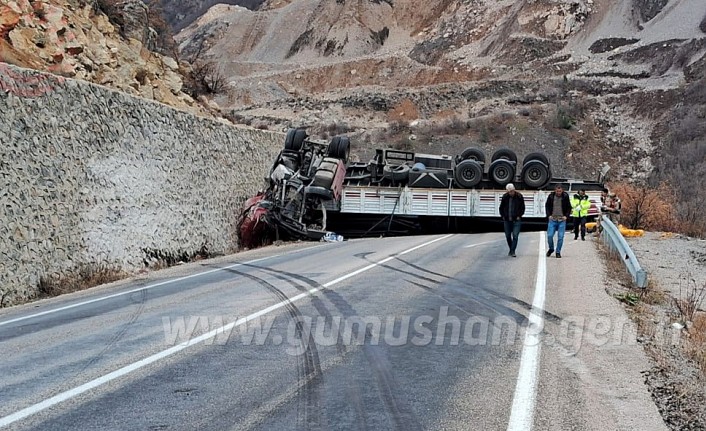
[[[0,306],[86,268],[236,249],[283,135],[0,64]]]

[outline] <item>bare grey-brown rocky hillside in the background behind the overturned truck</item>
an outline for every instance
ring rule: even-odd
[[[704,169],[697,133],[687,160],[673,141],[704,110],[686,95],[706,85],[705,31],[702,0],[270,0],[213,6],[176,38],[219,64],[236,122],[345,132],[361,157],[542,148],[555,174],[609,163],[681,190],[675,172]]]

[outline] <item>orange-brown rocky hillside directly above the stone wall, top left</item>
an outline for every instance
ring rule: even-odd
[[[148,16],[148,8],[137,0],[3,2],[0,61],[210,115],[184,92],[188,65],[156,52],[159,35],[149,26]]]

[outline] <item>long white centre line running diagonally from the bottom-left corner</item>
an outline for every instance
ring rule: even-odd
[[[426,247],[426,246],[431,245],[431,244],[433,244],[433,243],[435,243],[435,242],[442,241],[442,240],[445,240],[445,239],[447,239],[447,238],[450,238],[451,236],[453,236],[453,235],[446,235],[446,236],[443,236],[443,237],[440,237],[440,238],[436,238],[436,239],[433,239],[433,240],[431,240],[431,241],[427,241],[427,242],[425,242],[425,243],[423,243],[423,244],[420,244],[420,245],[418,245],[418,246],[412,247],[412,248],[410,248],[410,249],[408,249],[408,250],[405,250],[405,251],[403,251],[403,252],[401,252],[401,253],[398,253],[398,254],[389,256],[389,257],[387,257],[387,258],[385,258],[385,259],[383,259],[383,260],[381,260],[381,261],[379,261],[379,262],[372,263],[372,264],[370,264],[370,265],[368,265],[368,266],[366,266],[366,267],[360,268],[360,269],[355,270],[355,271],[353,271],[353,272],[350,272],[350,273],[348,273],[348,274],[346,274],[346,275],[343,275],[343,276],[341,276],[341,277],[338,277],[338,278],[336,278],[335,280],[331,280],[331,281],[329,281],[328,283],[323,284],[321,287],[315,287],[315,288],[309,289],[309,290],[306,291],[306,292],[302,292],[302,293],[300,293],[300,294],[298,294],[298,295],[296,295],[296,296],[293,296],[293,297],[291,297],[291,298],[289,298],[289,299],[286,299],[286,300],[284,300],[284,301],[282,301],[282,302],[278,302],[278,303],[276,303],[276,304],[274,304],[274,305],[271,305],[271,306],[269,306],[269,307],[267,307],[267,308],[264,308],[264,309],[262,309],[262,310],[260,310],[260,311],[257,311],[257,312],[255,312],[255,313],[252,313],[252,314],[250,314],[250,315],[248,315],[248,316],[246,316],[246,317],[240,318],[240,319],[236,320],[235,322],[232,322],[232,323],[229,323],[229,324],[227,324],[227,325],[224,325],[224,326],[222,326],[222,327],[220,327],[220,328],[214,329],[214,330],[212,330],[212,331],[210,331],[210,332],[207,332],[207,333],[205,333],[205,334],[203,334],[203,335],[200,335],[200,336],[198,336],[198,337],[196,337],[196,338],[193,338],[193,339],[191,339],[191,340],[189,340],[189,341],[186,341],[186,342],[184,342],[184,343],[178,344],[178,345],[176,345],[176,346],[174,346],[174,347],[171,347],[171,348],[169,348],[169,349],[167,349],[167,350],[163,350],[163,351],[161,351],[161,352],[155,353],[154,355],[148,356],[147,358],[141,359],[141,360],[139,360],[139,361],[137,361],[137,362],[133,362],[133,363],[130,364],[130,365],[126,365],[126,366],[123,367],[123,368],[117,369],[117,370],[115,370],[115,371],[113,371],[113,372],[111,372],[111,373],[108,373],[108,374],[106,374],[106,375],[104,375],[104,376],[101,376],[101,377],[99,377],[99,378],[97,378],[97,379],[91,380],[91,381],[88,382],[88,383],[84,383],[84,384],[82,384],[82,385],[80,385],[80,386],[77,386],[77,387],[75,387],[75,388],[73,388],[73,389],[70,389],[70,390],[68,390],[68,391],[61,392],[60,394],[54,395],[53,397],[48,398],[48,399],[46,399],[46,400],[44,400],[44,401],[42,401],[42,402],[39,402],[39,403],[34,404],[34,405],[31,405],[31,406],[29,406],[29,407],[27,407],[27,408],[24,408],[24,409],[22,409],[22,410],[20,410],[20,411],[18,411],[18,412],[16,412],[16,413],[13,413],[13,414],[11,414],[11,415],[8,415],[8,416],[5,416],[5,417],[3,417],[3,418],[0,418],[0,427],[4,427],[4,426],[7,426],[7,425],[10,425],[10,424],[12,424],[12,423],[15,423],[15,422],[17,422],[17,421],[19,421],[19,420],[21,420],[21,419],[24,419],[24,418],[28,417],[28,416],[34,415],[34,414],[36,414],[36,413],[39,413],[39,412],[42,411],[42,410],[45,410],[45,409],[47,409],[47,408],[49,408],[49,407],[52,407],[52,406],[54,406],[54,405],[56,405],[56,404],[59,404],[59,403],[63,402],[63,401],[69,400],[69,399],[71,399],[71,398],[73,398],[73,397],[75,397],[75,396],[77,396],[77,395],[80,395],[80,394],[82,394],[82,393],[84,393],[84,392],[86,392],[86,391],[89,391],[89,390],[94,389],[94,388],[96,388],[96,387],[98,387],[98,386],[101,386],[101,385],[103,385],[103,384],[105,384],[105,383],[108,383],[108,382],[110,382],[111,380],[115,380],[115,379],[117,379],[117,378],[119,378],[119,377],[125,376],[126,374],[129,374],[129,373],[131,373],[131,372],[133,372],[133,371],[139,370],[140,368],[143,368],[143,367],[145,367],[145,366],[147,366],[147,365],[149,365],[149,364],[152,364],[152,363],[154,363],[154,362],[157,362],[157,361],[159,361],[160,359],[164,359],[164,358],[166,358],[166,357],[168,357],[168,356],[171,356],[171,355],[173,355],[173,354],[175,354],[175,353],[177,353],[177,352],[181,352],[182,350],[186,349],[187,347],[193,346],[194,344],[201,343],[201,342],[203,342],[203,341],[208,340],[209,338],[216,337],[216,336],[218,336],[219,334],[229,333],[229,332],[230,332],[231,330],[233,330],[234,328],[236,328],[236,327],[238,327],[238,326],[241,326],[241,325],[243,325],[243,324],[245,324],[245,323],[247,323],[247,322],[249,322],[249,321],[251,321],[251,320],[253,320],[253,319],[257,319],[258,317],[263,316],[263,315],[265,315],[265,314],[267,314],[267,313],[269,313],[269,312],[271,312],[271,311],[274,311],[274,310],[277,310],[277,309],[279,309],[279,308],[282,308],[282,307],[284,307],[284,306],[287,305],[287,304],[291,304],[291,303],[293,303],[293,302],[299,301],[300,299],[305,298],[305,297],[307,297],[307,296],[311,296],[311,295],[313,295],[313,294],[319,292],[319,291],[322,290],[322,289],[325,289],[325,288],[327,288],[327,287],[331,287],[331,286],[333,286],[333,285],[335,285],[335,284],[337,284],[337,283],[340,283],[340,282],[343,281],[343,280],[346,280],[346,279],[348,279],[348,278],[354,277],[354,276],[356,276],[356,275],[358,275],[358,274],[361,274],[361,273],[363,273],[363,272],[365,272],[365,271],[368,271],[368,270],[370,270],[370,269],[372,269],[372,268],[375,268],[376,266],[382,265],[382,264],[385,263],[385,262],[389,262],[389,261],[391,261],[392,259],[395,259],[397,256],[402,256],[402,255],[405,255],[405,254],[407,254],[407,253],[411,253],[411,252],[413,252],[413,251],[415,251],[415,250],[418,250],[418,249],[420,249],[420,248],[422,248],[422,247]]]

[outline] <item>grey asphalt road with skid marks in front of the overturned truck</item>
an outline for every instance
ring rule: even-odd
[[[2,310],[0,428],[660,429],[639,346],[556,341],[606,314],[567,293],[595,247],[543,250],[538,232],[514,259],[498,233],[270,247]]]

